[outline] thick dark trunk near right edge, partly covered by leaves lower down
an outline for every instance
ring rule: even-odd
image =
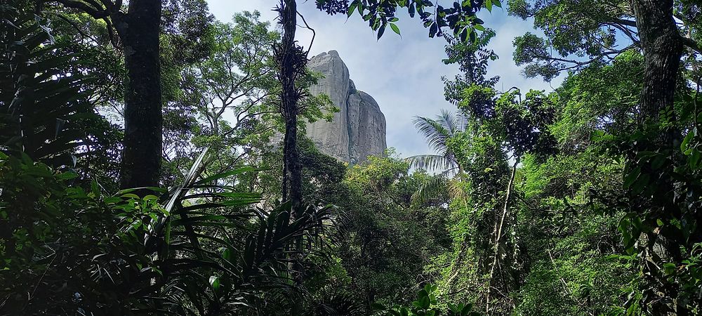
[[[632,8],[644,55],[644,81],[638,121],[641,129],[647,129],[649,124],[661,119],[661,112],[673,110],[684,46],[673,18],[673,0],[633,0]],[[675,122],[674,115],[666,119]],[[675,149],[679,141],[677,129],[667,128],[661,130],[657,138],[651,139],[651,143],[645,144],[642,150]],[[649,166],[642,166],[642,169],[650,172]],[[670,180],[658,180],[654,185],[663,192],[675,190]],[[642,235],[639,244],[642,249],[642,291],[646,312],[651,315],[685,315],[684,310],[679,310],[676,306],[677,286],[668,282],[658,267],[679,255],[677,245],[667,242],[665,236],[658,235],[657,232]]]

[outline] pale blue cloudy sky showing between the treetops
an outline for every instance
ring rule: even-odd
[[[208,0],[210,11],[223,22],[232,20],[240,11],[260,11],[263,19],[274,22],[271,9],[277,0]],[[503,1],[503,3],[506,1]],[[395,147],[402,157],[429,153],[423,138],[412,124],[414,116],[434,117],[441,109],[456,110],[444,100],[441,77],[458,73],[454,65],[444,65],[444,39],[428,37],[417,18],[401,13],[397,25],[402,37],[388,29],[380,41],[358,13],[349,20],[345,15],[329,16],[317,11],[314,0],[298,1],[298,11],[315,29],[310,55],[336,50],[349,68],[351,79],[359,90],[369,93],[378,101],[388,122],[388,147]],[[489,76],[500,76],[498,90],[517,86],[552,91],[550,84],[541,79],[525,79],[512,61],[512,39],[524,32],[536,32],[531,22],[524,22],[496,8],[492,13],[479,13],[486,26],[495,29],[497,36],[490,48],[500,59],[492,62]],[[539,32],[536,32],[537,34]],[[298,28],[298,40],[307,47],[311,32]],[[556,86],[558,80],[552,82]]]

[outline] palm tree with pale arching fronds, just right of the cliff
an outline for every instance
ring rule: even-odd
[[[415,117],[413,122],[436,154],[420,154],[408,157],[406,161],[413,168],[437,172],[437,176],[425,181],[412,195],[413,201],[426,202],[444,189],[448,189],[451,197],[464,197],[459,185],[463,180],[463,168],[447,144],[450,138],[463,130],[458,118],[449,111],[441,110],[436,119]]]

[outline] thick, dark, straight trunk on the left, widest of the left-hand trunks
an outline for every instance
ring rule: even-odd
[[[131,0],[128,13],[117,13],[112,19],[124,47],[128,78],[120,185],[158,186],[163,143],[161,1]]]

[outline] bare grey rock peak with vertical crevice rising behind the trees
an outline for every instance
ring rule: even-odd
[[[331,122],[307,124],[307,136],[319,150],[350,164],[383,154],[387,147],[385,115],[373,97],[356,89],[339,54],[336,51],[321,53],[314,56],[307,67],[324,74],[311,88],[312,93],[326,93],[340,110]]]

